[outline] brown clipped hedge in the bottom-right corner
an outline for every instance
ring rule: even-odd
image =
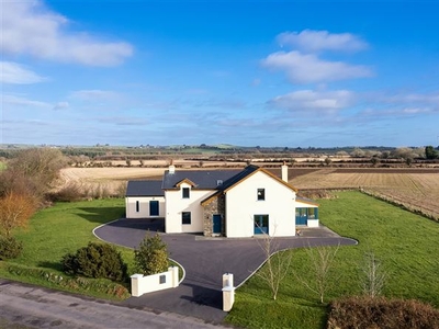
[[[347,297],[329,305],[327,328],[439,328],[439,310],[413,299]]]

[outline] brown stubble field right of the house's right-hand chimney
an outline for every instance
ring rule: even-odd
[[[439,218],[439,169],[292,169],[290,183],[299,190],[361,188]]]

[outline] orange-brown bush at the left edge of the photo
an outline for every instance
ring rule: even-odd
[[[14,228],[25,227],[35,208],[35,200],[27,195],[8,193],[0,198],[0,234],[9,238]]]

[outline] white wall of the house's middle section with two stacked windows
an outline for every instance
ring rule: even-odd
[[[182,189],[190,188],[189,198],[183,198]],[[191,185],[183,183],[180,190],[165,191],[166,197],[166,232],[202,232],[203,231],[203,207],[201,202],[214,191],[192,190]],[[181,223],[181,213],[191,213],[191,224]]]

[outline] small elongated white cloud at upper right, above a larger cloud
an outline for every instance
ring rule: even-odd
[[[304,30],[302,32],[281,33],[277,39],[282,46],[289,45],[312,53],[319,50],[357,52],[368,48],[364,41],[351,33]]]

